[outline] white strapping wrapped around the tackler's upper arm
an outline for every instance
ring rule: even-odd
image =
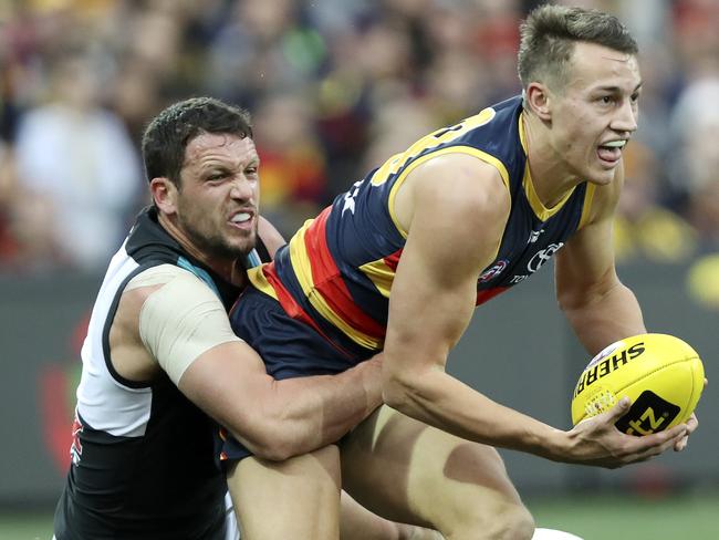
[[[136,288],[152,282],[157,284],[153,274],[158,278],[161,273],[160,282],[167,279],[143,303],[139,336],[177,385],[185,370],[202,353],[222,343],[242,340],[232,332],[222,302],[207,284],[177,267],[156,268],[154,272],[147,270],[139,274],[143,279],[137,282],[131,281],[132,288]]]

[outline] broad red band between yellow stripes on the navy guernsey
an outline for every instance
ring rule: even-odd
[[[385,328],[368,316],[352,300],[352,294],[330,253],[325,229],[331,209],[332,207],[325,208],[317,216],[304,237],[314,288],[322,294],[330,309],[348,325],[364,334],[382,339],[385,335]]]

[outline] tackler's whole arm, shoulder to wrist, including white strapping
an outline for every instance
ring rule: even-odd
[[[379,405],[379,360],[334,376],[274,381],[235,335],[215,292],[183,269],[163,267],[134,278],[121,299],[111,331],[121,375],[147,381],[164,370],[190,401],[267,459],[326,446]]]

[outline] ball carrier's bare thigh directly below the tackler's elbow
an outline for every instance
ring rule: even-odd
[[[228,469],[242,540],[336,540],[340,453],[327,446],[285,461],[248,457]]]

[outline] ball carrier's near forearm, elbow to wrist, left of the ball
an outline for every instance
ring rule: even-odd
[[[562,460],[564,432],[498,404],[439,368],[385,380],[385,402],[420,422],[477,443]]]

